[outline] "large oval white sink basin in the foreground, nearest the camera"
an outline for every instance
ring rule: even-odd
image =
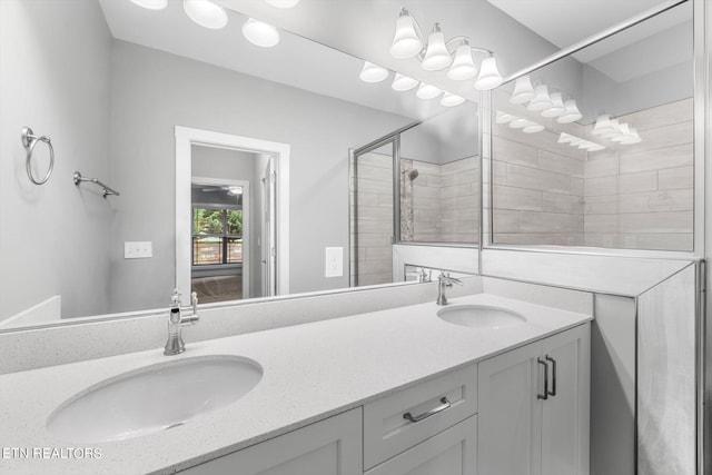
[[[47,429],[75,443],[139,437],[235,403],[261,377],[261,366],[237,356],[159,363],[107,379],[69,398],[47,419]]]

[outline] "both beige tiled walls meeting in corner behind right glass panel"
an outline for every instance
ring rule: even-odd
[[[495,99],[496,109],[545,126],[524,133],[493,125],[495,244],[692,249],[692,99],[619,117],[642,138],[627,146]],[[557,144],[562,131],[606,149],[586,156]]]

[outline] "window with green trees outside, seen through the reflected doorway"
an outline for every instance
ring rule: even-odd
[[[192,208],[192,265],[243,264],[243,210]]]

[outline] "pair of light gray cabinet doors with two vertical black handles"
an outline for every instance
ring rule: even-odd
[[[479,475],[589,474],[590,325],[478,365]]]

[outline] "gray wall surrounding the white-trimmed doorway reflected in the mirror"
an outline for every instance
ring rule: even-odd
[[[161,307],[175,285],[176,125],[289,144],[290,291],[348,286],[347,268],[324,277],[324,248],[348,249],[348,148],[409,119],[122,41],[112,68],[112,308]],[[123,260],[126,240],[154,258]]]

